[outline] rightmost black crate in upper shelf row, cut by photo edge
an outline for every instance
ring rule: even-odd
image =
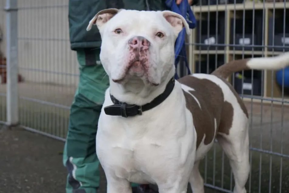
[[[284,26],[285,26],[285,35],[284,35]],[[274,31],[274,45],[273,45],[273,31]],[[268,46],[273,46],[268,47],[269,51],[272,51],[273,48],[274,51],[283,51],[283,50],[289,51],[289,23],[286,22],[284,24],[283,17],[275,18],[275,21],[273,17],[269,18]]]

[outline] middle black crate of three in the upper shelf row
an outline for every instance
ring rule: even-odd
[[[234,19],[231,19],[231,34],[230,44],[234,44],[235,38],[235,50],[252,50],[255,45],[262,45],[262,33],[263,33],[263,19],[262,15],[255,13],[254,30],[253,19],[245,18],[245,29],[243,34],[243,18],[236,19],[234,30]],[[253,33],[254,32],[254,33]],[[235,33],[235,37],[233,34]],[[234,46],[230,48],[233,49]],[[254,47],[254,50],[262,50],[262,47]]]

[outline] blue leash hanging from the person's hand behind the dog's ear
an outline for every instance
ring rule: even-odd
[[[189,27],[191,29],[194,29],[196,27],[196,18],[194,16],[193,11],[191,10],[188,0],[183,0],[180,5],[176,4],[176,0],[167,0],[166,5],[170,7],[171,11],[182,15],[188,22]],[[175,42],[175,67],[177,68],[177,64],[180,60],[180,57],[182,57],[187,67],[188,74],[191,74],[186,54],[185,37],[186,37],[186,29],[183,28],[179,33],[177,40]],[[178,78],[179,76],[177,75],[176,72],[175,79]]]

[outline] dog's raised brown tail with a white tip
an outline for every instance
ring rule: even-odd
[[[274,57],[233,60],[217,68],[212,75],[226,79],[232,73],[242,70],[279,70],[286,66],[289,66],[289,52]]]

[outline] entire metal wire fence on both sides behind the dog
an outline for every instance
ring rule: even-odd
[[[203,0],[199,4],[193,7],[198,24],[187,43],[192,72],[210,73],[234,59],[289,51],[289,2]],[[0,0],[0,7],[5,7],[4,0]],[[17,7],[14,29],[18,33],[16,91],[20,125],[64,140],[78,82],[77,60],[69,43],[68,0],[22,0]],[[4,41],[0,49],[8,58],[6,30],[13,28],[5,25],[5,19],[6,13],[1,10]],[[0,69],[6,68],[4,63],[0,63]],[[0,71],[2,80],[5,74]],[[251,171],[247,191],[289,192],[289,88],[284,86],[289,84],[288,68],[277,72],[243,71],[229,81],[249,110]],[[11,119],[6,108],[15,99],[6,86],[2,81],[0,123]],[[216,143],[200,165],[206,186],[232,192],[234,181],[228,166],[227,157]]]

